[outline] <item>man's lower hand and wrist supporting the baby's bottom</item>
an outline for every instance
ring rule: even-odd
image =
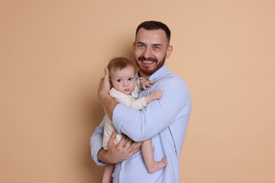
[[[97,158],[103,163],[118,163],[130,158],[134,153],[141,148],[142,142],[135,142],[125,135],[121,138],[118,145],[114,144],[116,132],[111,134],[108,144],[108,151],[100,149],[97,153]]]

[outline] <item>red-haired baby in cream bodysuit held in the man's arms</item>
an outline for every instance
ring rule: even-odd
[[[119,103],[123,103],[126,106],[141,110],[142,108],[145,108],[149,102],[156,99],[161,99],[161,90],[156,90],[147,96],[138,99],[139,92],[142,89],[147,89],[147,87],[150,87],[155,81],[148,81],[144,78],[139,78],[137,80],[134,65],[127,58],[114,58],[109,62],[107,68],[109,69],[109,80],[112,86],[109,94]],[[105,119],[103,148],[108,150],[108,141],[112,132],[116,129],[107,115]],[[117,134],[114,143],[118,144],[121,137],[122,134]],[[149,173],[154,173],[168,165],[166,158],[162,158],[160,161],[154,161],[154,152],[151,139],[147,139],[142,142],[141,151]],[[106,165],[102,182],[111,182],[111,174],[113,171],[114,164]]]

